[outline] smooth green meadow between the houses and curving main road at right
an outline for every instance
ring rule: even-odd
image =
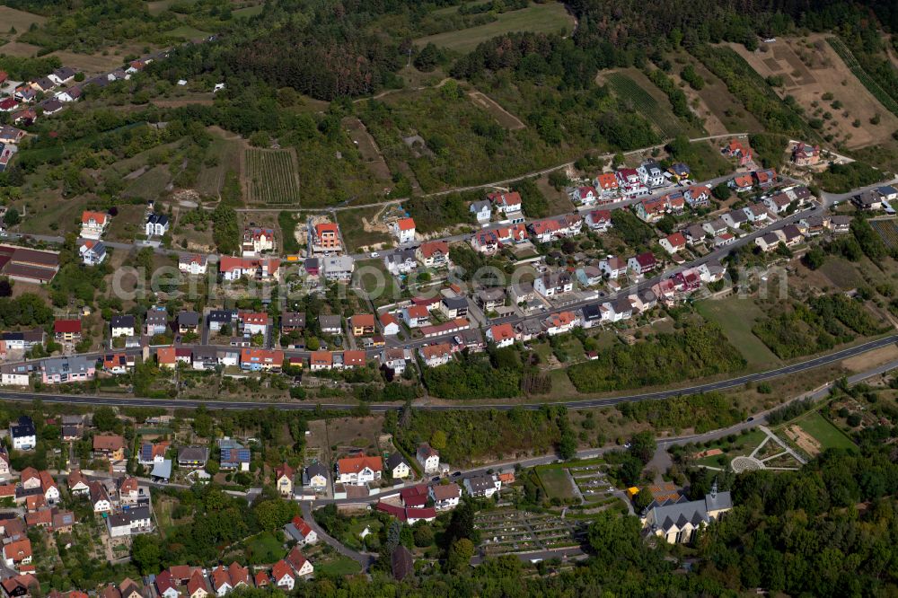
[[[716,301],[701,301],[695,307],[705,320],[720,325],[726,339],[739,349],[750,368],[779,364],[777,356],[752,332],[754,322],[762,316],[753,300],[733,295]]]

